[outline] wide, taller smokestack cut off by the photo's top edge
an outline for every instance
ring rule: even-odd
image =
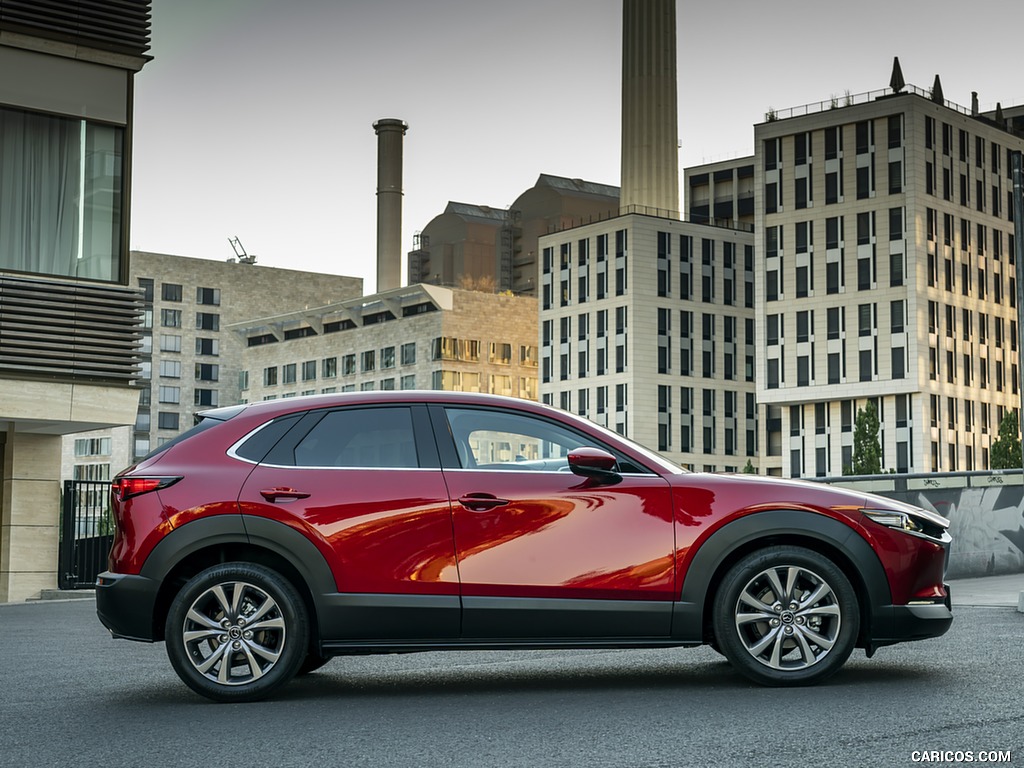
[[[679,215],[678,136],[676,0],[623,0],[620,205]]]

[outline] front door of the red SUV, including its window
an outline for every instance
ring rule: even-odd
[[[463,637],[581,641],[669,634],[672,490],[653,472],[569,471],[600,443],[510,409],[432,407],[452,500]],[[446,458],[445,458],[446,457]]]

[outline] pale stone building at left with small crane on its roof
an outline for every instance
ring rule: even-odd
[[[67,437],[69,479],[110,479],[191,427],[197,412],[241,401],[243,342],[227,326],[362,293],[359,278],[145,251],[131,252],[131,284],[144,301],[134,427]]]

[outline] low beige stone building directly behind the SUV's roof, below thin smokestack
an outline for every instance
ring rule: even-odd
[[[415,285],[239,323],[247,401],[444,389],[537,399],[537,300]]]

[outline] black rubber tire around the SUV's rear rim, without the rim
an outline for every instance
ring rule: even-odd
[[[243,685],[220,685],[206,678],[193,666],[182,638],[185,616],[196,599],[211,587],[228,582],[248,582],[266,592],[278,603],[285,621],[281,656],[266,674]],[[286,578],[263,565],[229,562],[201,571],[181,588],[167,613],[164,637],[171,666],[194,691],[215,701],[255,701],[298,673],[308,652],[309,621],[302,598]]]

